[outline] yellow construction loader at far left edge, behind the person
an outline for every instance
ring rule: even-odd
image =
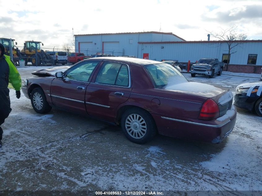
[[[0,38],[0,43],[4,46],[5,52],[4,54],[10,56],[10,46],[12,49],[12,54],[13,54],[13,61],[17,65],[19,61],[19,57],[21,56],[20,50],[14,45],[14,39],[9,39],[9,38]],[[16,42],[17,45],[17,42]]]

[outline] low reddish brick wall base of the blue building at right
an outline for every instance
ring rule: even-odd
[[[235,65],[229,64],[228,70],[227,65],[224,64],[223,71],[236,72],[236,73],[259,73],[262,72],[262,65]]]

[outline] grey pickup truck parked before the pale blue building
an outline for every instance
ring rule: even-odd
[[[191,76],[205,75],[213,78],[215,74],[221,76],[224,63],[219,62],[218,59],[201,58],[196,64],[191,67]]]

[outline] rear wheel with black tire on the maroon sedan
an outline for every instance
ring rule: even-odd
[[[135,120],[131,121],[130,119]],[[127,139],[137,144],[149,142],[157,133],[153,117],[147,111],[140,108],[131,108],[124,112],[121,119],[121,128]]]

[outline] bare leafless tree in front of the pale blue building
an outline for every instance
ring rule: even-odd
[[[227,70],[229,64],[229,58],[231,54],[236,53],[237,51],[232,51],[233,48],[244,44],[243,40],[246,40],[247,35],[245,33],[237,33],[237,26],[233,25],[228,29],[222,29],[220,33],[209,32],[212,37],[216,38],[216,41],[226,42],[228,45],[228,59],[227,59]]]

